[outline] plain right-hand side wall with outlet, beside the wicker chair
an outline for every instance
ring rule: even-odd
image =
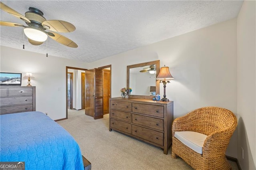
[[[244,170],[256,169],[255,6],[255,1],[244,1],[237,18],[238,161]]]

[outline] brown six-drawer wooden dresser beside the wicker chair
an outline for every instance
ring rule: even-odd
[[[173,101],[110,99],[109,130],[122,132],[164,149],[172,143]]]

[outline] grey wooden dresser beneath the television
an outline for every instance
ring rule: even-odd
[[[0,115],[36,111],[36,87],[0,86]]]

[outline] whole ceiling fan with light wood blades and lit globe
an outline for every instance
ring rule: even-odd
[[[34,7],[29,7],[29,11],[25,13],[25,16],[23,16],[12,8],[6,6],[4,3],[0,3],[0,7],[2,10],[8,12],[9,14],[12,14],[17,18],[20,18],[21,20],[26,22],[28,26],[6,21],[0,21],[0,25],[10,27],[24,27],[24,34],[28,37],[28,42],[30,42],[32,45],[41,45],[47,40],[49,36],[56,42],[66,45],[68,47],[78,47],[78,45],[72,40],[56,33],[73,32],[74,30],[76,30],[76,27],[73,24],[62,20],[46,20],[43,17],[44,13]],[[50,30],[54,32],[46,32],[45,30]]]

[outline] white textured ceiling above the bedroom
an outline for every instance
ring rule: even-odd
[[[180,34],[236,18],[243,1],[85,1],[1,0],[25,15],[29,7],[44,12],[46,20],[64,20],[76,26],[60,33],[78,44],[66,47],[48,38],[48,55],[92,62],[130,49],[159,42]],[[1,20],[25,24],[1,10]],[[0,27],[1,45],[22,49],[22,27]],[[46,54],[46,42],[26,51]]]

